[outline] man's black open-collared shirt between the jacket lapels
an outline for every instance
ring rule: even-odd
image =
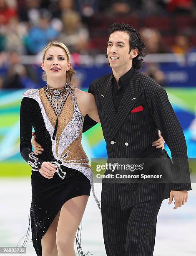
[[[125,74],[123,74],[122,77],[120,77],[118,81],[119,88],[118,88],[116,79],[114,78],[112,73],[112,95],[113,95],[114,108],[116,112],[118,111],[118,108],[121,103],[121,99],[123,97],[123,93],[127,87],[129,80],[133,75],[133,72],[134,72],[134,68],[132,67],[131,69],[129,69],[128,72],[126,72]]]

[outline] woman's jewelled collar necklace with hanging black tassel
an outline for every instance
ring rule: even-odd
[[[48,98],[48,101],[50,102],[50,105],[52,106],[55,112],[55,115],[57,116],[55,130],[53,133],[53,140],[55,140],[58,127],[58,117],[63,109],[65,101],[67,100],[71,92],[71,86],[66,82],[64,87],[58,90],[53,89],[52,87],[50,87],[50,85],[46,84],[46,86],[44,87],[44,92],[46,97]]]

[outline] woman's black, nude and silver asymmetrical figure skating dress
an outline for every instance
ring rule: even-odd
[[[93,171],[81,145],[83,116],[74,87],[68,83],[55,90],[49,85],[23,93],[20,107],[20,153],[32,166],[31,230],[33,246],[42,256],[41,238],[63,204],[70,198],[90,195]],[[31,147],[32,128],[44,151],[36,156]],[[38,170],[43,162],[57,166],[52,179]]]

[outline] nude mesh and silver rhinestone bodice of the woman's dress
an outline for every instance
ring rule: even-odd
[[[44,88],[39,91],[40,99],[43,102],[46,115],[53,127],[55,127],[56,115],[52,106],[44,93]],[[64,103],[63,109],[58,117],[58,129],[56,139],[52,141],[53,154],[56,159],[62,161],[75,160],[76,155],[80,159],[81,155],[81,134],[83,127],[83,116],[78,108],[73,89],[70,89],[70,94]],[[51,133],[51,131],[50,131]],[[76,145],[77,144],[77,145]],[[74,146],[75,145],[75,146]],[[77,147],[76,147],[77,146]],[[78,148],[79,146],[79,148]],[[78,148],[78,153],[76,152]],[[74,151],[74,152],[73,152]],[[84,156],[83,151],[83,156]],[[86,155],[85,155],[86,157]]]

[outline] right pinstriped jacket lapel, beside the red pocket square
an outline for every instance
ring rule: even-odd
[[[135,71],[130,81],[128,82],[128,85],[121,100],[121,104],[116,114],[113,130],[111,133],[111,139],[113,138],[113,136],[115,136],[118,129],[121,127],[122,123],[126,119],[128,113],[130,113],[131,109],[136,104],[142,94],[142,92],[139,91],[140,77],[141,73]]]

